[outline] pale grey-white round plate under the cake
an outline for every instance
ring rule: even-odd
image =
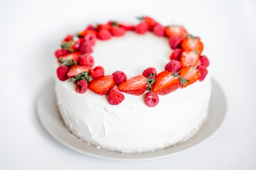
[[[127,154],[97,149],[95,146],[87,144],[86,142],[72,135],[64,126],[59,115],[54,92],[54,81],[52,79],[47,82],[39,94],[37,101],[37,112],[45,130],[61,144],[77,152],[92,157],[119,161],[144,161],[159,159],[181,153],[194,146],[197,146],[202,141],[213,135],[213,133],[219,128],[223,119],[225,118],[227,102],[223,91],[214,79],[212,80],[212,85],[213,88],[209,106],[209,117],[203,124],[201,130],[182,144],[177,144],[175,146],[155,152]]]

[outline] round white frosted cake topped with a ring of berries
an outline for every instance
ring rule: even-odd
[[[124,153],[186,141],[207,119],[211,76],[202,51],[184,27],[150,17],[67,35],[55,52],[65,126],[97,148]]]

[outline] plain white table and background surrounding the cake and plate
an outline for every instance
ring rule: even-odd
[[[90,22],[135,21],[149,15],[199,35],[227,116],[210,139],[179,155],[110,161],[66,148],[41,126],[38,93],[54,72],[53,51],[67,33]],[[0,1],[1,170],[255,170],[256,0]]]

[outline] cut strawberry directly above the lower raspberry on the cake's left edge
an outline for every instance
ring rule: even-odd
[[[65,66],[71,66],[78,63],[80,52],[70,53],[58,58],[58,62]]]

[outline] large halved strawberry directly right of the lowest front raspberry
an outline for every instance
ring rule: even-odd
[[[181,82],[179,77],[175,77],[169,71],[162,71],[157,75],[157,80],[152,86],[152,91],[157,95],[167,95],[180,88]]]

